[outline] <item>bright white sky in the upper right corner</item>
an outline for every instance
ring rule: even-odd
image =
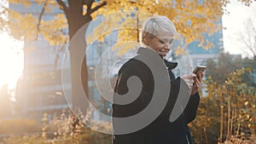
[[[241,54],[245,57],[247,55],[242,49],[239,37],[245,30],[244,23],[247,19],[252,18],[254,26],[256,26],[256,3],[253,2],[250,7],[246,7],[237,0],[231,0],[227,9],[230,14],[224,14],[223,16],[223,26],[226,27],[226,30],[223,30],[224,51],[234,55]]]

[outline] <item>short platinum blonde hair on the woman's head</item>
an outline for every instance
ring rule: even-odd
[[[144,21],[142,32],[140,33],[140,43],[145,45],[145,38],[158,37],[166,39],[177,34],[173,22],[164,15],[154,15]]]

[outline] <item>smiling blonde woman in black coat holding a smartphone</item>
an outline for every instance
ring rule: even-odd
[[[175,33],[175,26],[166,16],[150,17],[143,23],[140,40],[142,47],[137,51],[138,56],[127,61],[120,68],[119,77],[114,88],[113,144],[193,144],[188,124],[195,118],[200,100],[198,89],[201,87],[203,74],[199,73],[196,76],[191,73],[188,76],[175,78],[172,69],[177,66],[177,63],[164,60],[171,49],[170,45]],[[154,70],[152,70],[152,66]],[[165,72],[167,75],[169,74],[168,77],[163,74]],[[165,81],[168,78],[169,84],[156,83],[158,80],[155,76],[158,77],[159,73],[163,77],[161,81]],[[129,82],[132,77],[139,78],[140,82],[134,84]],[[136,89],[135,91],[140,89],[140,92],[130,93],[131,88]],[[160,91],[156,97],[166,100],[165,103],[156,102],[151,105],[151,102],[154,101],[155,91]],[[139,95],[135,99],[134,96],[136,94]],[[132,97],[134,100],[130,103],[116,102],[120,97]],[[185,100],[186,98],[188,100],[187,103],[178,101],[178,99]],[[155,109],[160,109],[161,111],[155,110],[155,112],[159,112],[157,117],[150,123],[143,125],[141,129],[134,130],[130,127],[140,127],[144,121],[148,120],[147,118],[143,120],[138,118],[139,123],[134,123],[136,121],[129,123],[129,121],[119,121],[118,119],[132,117],[144,112],[149,105],[154,107],[150,109],[152,112],[149,115],[154,115]],[[174,107],[179,109],[181,113],[179,113],[178,118],[172,121],[170,117],[172,110],[175,109]]]

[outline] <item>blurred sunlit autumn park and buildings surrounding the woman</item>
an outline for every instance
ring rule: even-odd
[[[0,143],[111,143],[105,98],[152,14],[184,42],[169,57],[177,76],[207,66],[195,143],[255,143],[255,0],[2,0]],[[82,26],[84,45],[71,49]]]

